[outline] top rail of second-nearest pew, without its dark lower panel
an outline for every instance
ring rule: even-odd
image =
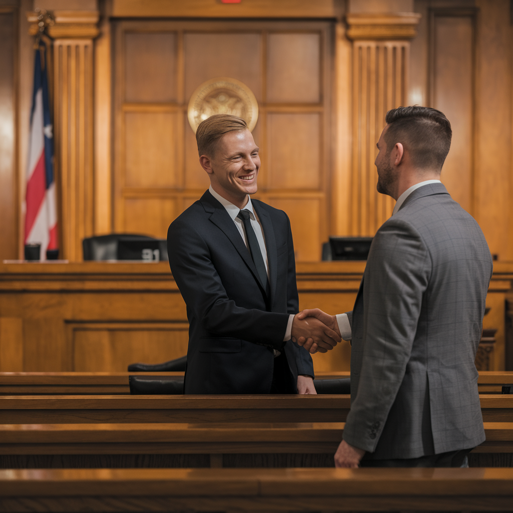
[[[344,423],[1,424],[0,455],[334,453]],[[513,452],[513,423],[485,422],[474,452]]]

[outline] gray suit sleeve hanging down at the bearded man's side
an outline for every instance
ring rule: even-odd
[[[430,273],[419,233],[401,220],[385,223],[365,270],[362,367],[343,435],[350,445],[376,449],[405,375]]]

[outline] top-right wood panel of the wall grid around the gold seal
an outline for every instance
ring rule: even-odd
[[[285,33],[267,36],[267,101],[320,103],[321,36]]]

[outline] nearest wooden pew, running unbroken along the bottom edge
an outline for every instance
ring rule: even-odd
[[[511,468],[0,470],[2,511],[505,511],[511,504]]]

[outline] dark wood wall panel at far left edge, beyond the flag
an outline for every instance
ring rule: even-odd
[[[15,6],[0,6],[0,259],[18,254],[17,17]]]

